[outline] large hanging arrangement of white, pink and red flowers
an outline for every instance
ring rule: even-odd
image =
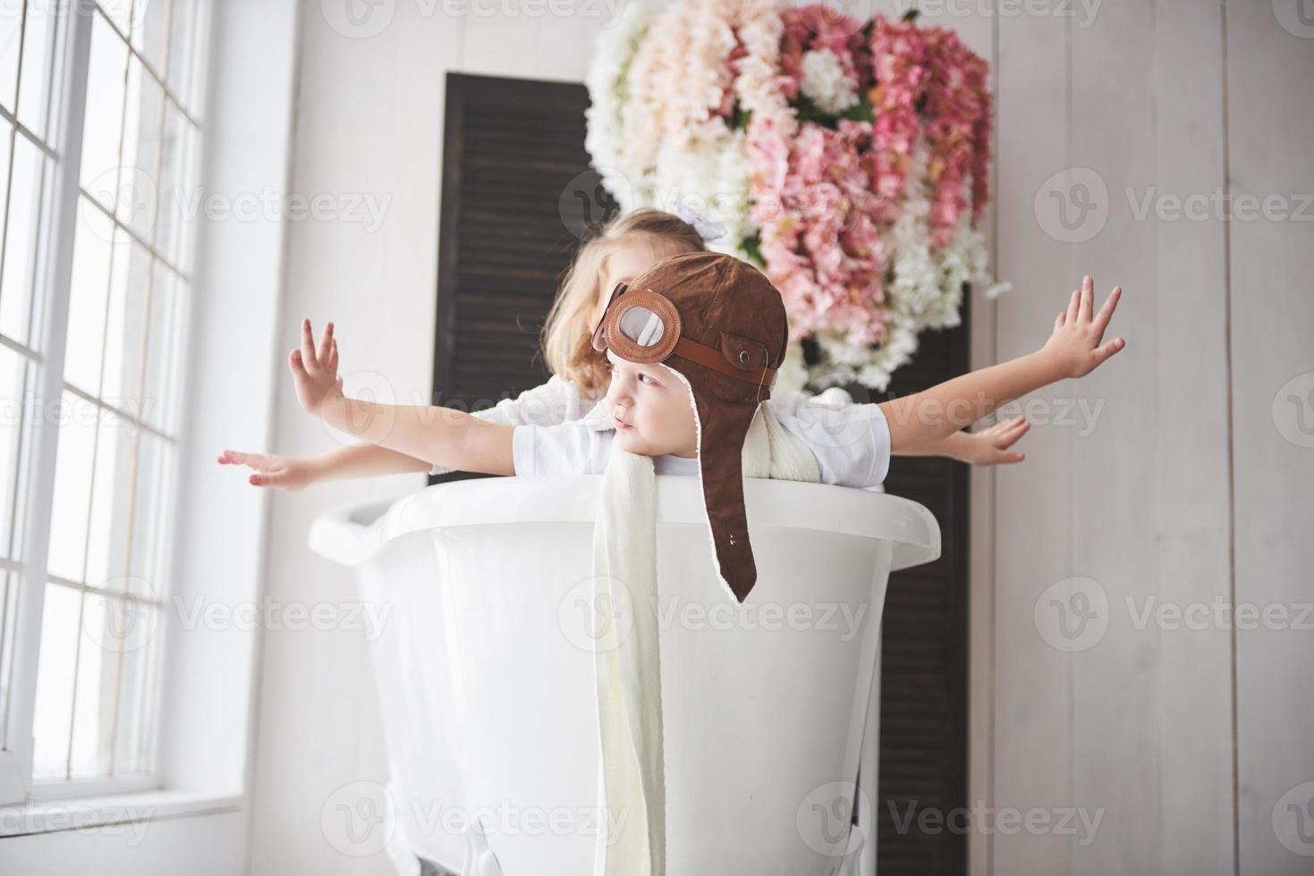
[[[942,28],[821,4],[628,4],[589,72],[585,147],[622,209],[700,213],[781,290],[784,389],[884,390],[964,285],[1007,289],[988,202],[988,66]],[[812,356],[802,343],[809,340]]]

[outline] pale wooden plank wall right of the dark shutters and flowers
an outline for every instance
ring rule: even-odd
[[[1102,405],[1093,428],[1033,428],[1028,461],[992,473],[993,553],[974,582],[972,800],[1102,821],[1093,842],[978,831],[974,872],[1309,872],[1273,825],[1276,808],[1294,833],[1277,804],[1314,779],[1311,619],[1305,632],[1234,633],[1226,615],[1193,626],[1138,615],[1151,599],[1197,620],[1215,599],[1288,612],[1311,600],[1301,532],[1314,450],[1288,437],[1293,406],[1275,415],[1273,402],[1314,369],[1314,210],[1300,197],[1314,192],[1314,30],[1285,29],[1275,11],[1298,21],[1296,4],[1268,0],[1072,8],[993,21],[997,268],[1017,290],[992,340],[1000,357],[1031,349],[1092,273],[1101,297],[1123,286],[1114,331],[1129,345],[1035,394]],[[1074,206],[1080,184],[1108,193],[1092,189],[1070,242],[1054,196]],[[1173,211],[1173,196],[1229,186],[1305,219]],[[1087,640],[1063,638],[1050,600],[1071,612],[1088,595],[1106,608]]]

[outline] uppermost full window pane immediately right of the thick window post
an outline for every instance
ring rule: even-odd
[[[83,114],[81,186],[106,209],[118,190],[118,141],[124,129],[127,45],[101,16],[92,16],[87,110]]]

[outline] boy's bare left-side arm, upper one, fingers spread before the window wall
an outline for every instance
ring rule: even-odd
[[[301,347],[292,351],[288,366],[301,407],[359,441],[461,471],[515,474],[511,426],[487,423],[436,405],[381,405],[347,398],[338,376],[332,323],[325,327],[317,348],[310,320],[304,319]]]

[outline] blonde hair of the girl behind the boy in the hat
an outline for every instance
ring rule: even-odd
[[[623,247],[644,246],[653,260],[681,252],[704,252],[707,244],[690,223],[678,215],[640,208],[603,225],[579,251],[562,274],[548,319],[543,326],[543,356],[557,377],[578,386],[583,395],[606,391],[611,374],[606,353],[593,348],[593,317],[603,289],[607,260]]]

